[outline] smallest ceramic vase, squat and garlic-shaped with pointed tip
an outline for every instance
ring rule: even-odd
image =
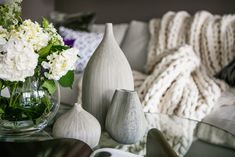
[[[76,103],[71,110],[56,120],[52,133],[54,137],[81,140],[94,148],[99,143],[101,127],[95,117]]]

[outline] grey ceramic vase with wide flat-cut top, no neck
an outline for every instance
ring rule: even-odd
[[[116,90],[105,124],[119,143],[133,144],[144,136],[147,122],[137,92]]]

